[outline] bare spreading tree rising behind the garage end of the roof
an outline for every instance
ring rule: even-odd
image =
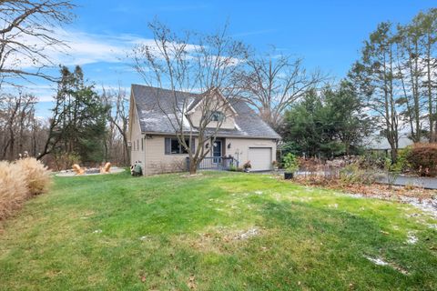
[[[318,70],[309,74],[301,58],[280,55],[274,49],[267,55],[249,58],[248,65],[249,72],[239,75],[244,99],[276,129],[290,105],[310,87],[327,79]]]

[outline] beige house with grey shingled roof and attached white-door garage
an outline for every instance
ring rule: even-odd
[[[219,90],[208,94],[190,94],[146,85],[132,85],[129,107],[128,139],[131,145],[131,161],[140,161],[144,175],[153,175],[186,169],[188,154],[179,145],[175,127],[170,118],[175,102],[185,104],[184,130],[194,133],[190,146],[198,146],[196,126],[199,122],[199,104],[203,98],[223,102],[217,118],[224,118],[219,128],[217,122],[208,126],[217,130],[216,140],[209,148],[212,162],[219,163],[221,156],[233,156],[242,166],[250,161],[252,171],[271,169],[276,159],[276,145],[280,136],[261,120],[245,102],[220,97]],[[176,100],[176,101],[175,101]],[[176,117],[175,117],[176,120]],[[212,140],[211,140],[212,142]]]

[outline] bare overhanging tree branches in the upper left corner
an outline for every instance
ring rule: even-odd
[[[47,51],[66,47],[56,37],[56,27],[71,22],[74,6],[70,0],[1,0],[0,79],[7,83],[30,76],[53,80],[43,72],[47,65],[55,65]]]

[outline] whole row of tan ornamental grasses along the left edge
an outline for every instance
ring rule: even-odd
[[[50,182],[50,172],[36,158],[0,162],[0,220],[11,216],[26,199],[45,192]]]

